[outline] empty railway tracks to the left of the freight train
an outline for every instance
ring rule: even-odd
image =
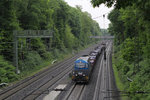
[[[55,67],[49,68],[47,70],[44,70],[30,78],[27,78],[18,84],[8,87],[6,90],[0,92],[0,99],[6,99],[6,100],[21,100],[21,99],[34,99],[37,97],[37,95],[34,95],[37,93],[37,91],[44,92],[45,89],[49,88],[49,86],[55,84],[57,81],[59,81],[62,76],[69,73],[72,69],[70,67],[74,62],[76,58],[81,56],[83,52],[87,53],[91,49],[93,49],[95,46],[91,47],[88,50],[82,51],[78,55],[67,59],[64,62],[60,62],[58,64],[55,64]],[[57,73],[56,73],[57,72]],[[41,92],[41,93],[42,93]]]

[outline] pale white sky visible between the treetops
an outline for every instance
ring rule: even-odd
[[[76,5],[82,6],[82,11],[87,11],[88,13],[90,13],[92,18],[95,18],[94,20],[96,20],[99,23],[100,28],[108,28],[110,21],[107,19],[108,14],[106,13],[109,13],[113,8],[107,8],[104,4],[100,5],[99,7],[93,8],[92,4],[90,3],[91,0],[64,1],[66,1],[72,7],[75,7]],[[103,18],[103,14],[106,14],[105,19]]]

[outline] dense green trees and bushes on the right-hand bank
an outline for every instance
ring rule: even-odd
[[[105,3],[115,9],[109,14],[109,32],[115,36],[115,66],[125,91],[132,100],[149,100],[150,88],[150,1],[92,0],[94,6]],[[127,78],[131,79],[129,82]],[[145,91],[147,94],[138,94]]]

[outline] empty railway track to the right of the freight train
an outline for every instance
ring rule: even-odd
[[[101,64],[101,76],[100,81],[97,81],[97,87],[99,89],[95,89],[94,99],[93,100],[120,100],[120,98],[114,98],[119,96],[117,91],[117,87],[115,84],[115,78],[112,68],[112,43],[109,44],[106,55],[106,60],[103,60],[103,64]]]

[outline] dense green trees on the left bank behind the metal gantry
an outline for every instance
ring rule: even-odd
[[[0,83],[17,78],[12,66],[13,30],[53,30],[50,39],[18,39],[21,72],[85,47],[95,42],[89,36],[100,35],[90,14],[63,0],[1,0],[0,9]]]

